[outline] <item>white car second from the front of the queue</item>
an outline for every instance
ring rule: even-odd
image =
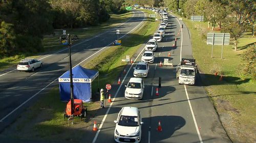
[[[127,99],[142,99],[144,92],[144,82],[142,78],[132,77],[130,78],[124,92],[124,97]]]

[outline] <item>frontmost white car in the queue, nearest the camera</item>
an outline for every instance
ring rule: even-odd
[[[122,107],[114,122],[116,123],[114,131],[116,142],[140,142],[143,122],[137,107]]]

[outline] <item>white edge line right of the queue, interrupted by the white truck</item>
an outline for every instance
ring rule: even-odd
[[[175,17],[174,15],[172,15],[172,16]],[[177,19],[177,17],[176,17],[175,19],[176,19],[176,20],[179,22],[179,24],[180,24],[180,21]],[[181,24],[180,24],[180,29],[181,29],[181,47],[180,47],[180,61],[181,61],[182,40],[183,40],[183,31],[182,31],[182,28],[181,28]],[[201,143],[203,143],[201,134],[200,134],[199,129],[198,129],[198,126],[197,126],[197,121],[196,121],[196,118],[195,118],[195,115],[194,115],[194,111],[193,111],[193,108],[192,108],[192,106],[191,106],[191,103],[190,103],[188,94],[187,94],[187,88],[186,88],[186,85],[185,85],[185,84],[184,84],[184,88],[185,88],[185,92],[186,92],[187,102],[188,102],[188,105],[189,105],[189,108],[190,108],[190,111],[191,111],[191,115],[192,115],[193,120],[194,120],[194,123],[195,123],[195,127],[196,127],[196,130],[197,130],[197,134],[198,134],[199,140],[200,140]]]

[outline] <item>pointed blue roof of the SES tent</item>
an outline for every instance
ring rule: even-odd
[[[81,67],[80,65],[72,68],[73,78],[92,78],[98,71],[89,70]],[[70,78],[70,71],[65,72],[59,78]]]

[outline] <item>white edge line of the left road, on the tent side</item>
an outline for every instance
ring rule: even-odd
[[[145,14],[144,14],[145,15]],[[134,17],[134,16],[133,16]],[[145,19],[145,17],[144,17],[144,19]],[[143,21],[144,21],[144,19],[143,19]],[[127,21],[129,21],[129,20],[127,20]],[[126,21],[126,22],[127,22]],[[143,21],[141,21],[135,28],[137,28]],[[131,33],[135,28],[133,28],[129,33]],[[127,33],[127,34],[129,34],[129,33]],[[127,34],[125,34],[125,35],[127,35]],[[122,37],[124,37],[125,35],[123,35]],[[121,37],[121,38],[122,38]],[[111,43],[112,44],[112,43]],[[110,44],[109,44],[110,45]],[[109,46],[109,45],[107,45],[107,46]],[[104,48],[106,48],[107,46],[105,46]],[[104,49],[104,48],[102,48],[102,49]],[[101,49],[101,50],[102,50]],[[101,50],[99,50],[99,51],[101,51]],[[94,54],[96,54],[96,53],[98,53],[99,51],[97,51],[97,52],[95,52]],[[94,54],[92,54],[91,56],[93,56]],[[91,56],[89,56],[87,59],[89,59],[89,58],[91,58]],[[87,60],[86,59],[86,60]],[[82,62],[84,62],[84,61],[86,61],[86,60],[83,60]],[[81,64],[82,62],[80,62],[79,64]],[[77,64],[77,65],[79,65],[79,64]],[[76,65],[76,66],[77,66]],[[22,104],[20,104],[18,107],[16,107],[15,109],[13,109],[10,113],[8,113],[8,115],[6,115],[4,118],[2,118],[1,120],[0,120],[0,122],[3,122],[7,117],[9,117],[14,111],[16,111],[18,108],[20,108],[21,106],[23,106],[25,103],[27,103],[29,100],[31,100],[32,98],[34,98],[36,95],[38,95],[41,91],[43,91],[43,90],[45,90],[47,87],[49,87],[54,81],[56,81],[56,80],[58,80],[58,78],[59,77],[57,77],[56,79],[54,79],[51,83],[49,83],[48,85],[46,85],[46,87],[45,88],[43,88],[43,89],[41,89],[39,92],[37,92],[36,94],[34,94],[32,97],[30,97],[29,99],[27,99],[25,102],[23,102]]]

